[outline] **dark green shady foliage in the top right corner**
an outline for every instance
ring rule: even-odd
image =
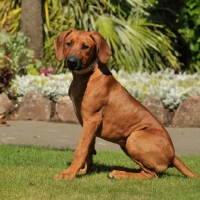
[[[200,1],[152,0],[150,20],[165,24],[176,37],[173,48],[179,52],[182,71],[200,72]]]

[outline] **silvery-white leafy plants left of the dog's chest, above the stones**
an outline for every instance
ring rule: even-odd
[[[57,101],[59,96],[68,94],[68,89],[72,80],[72,74],[59,74],[49,76],[16,76],[11,82],[11,88],[8,95],[17,97],[19,101],[28,92],[42,93],[47,98]]]

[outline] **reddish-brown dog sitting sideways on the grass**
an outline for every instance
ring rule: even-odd
[[[98,32],[68,30],[54,40],[56,58],[73,74],[69,96],[82,133],[74,159],[55,179],[75,178],[93,164],[95,138],[119,144],[138,172],[113,170],[110,178],[156,178],[169,167],[197,178],[175,156],[171,138],[161,123],[112,76],[106,63],[111,50]]]

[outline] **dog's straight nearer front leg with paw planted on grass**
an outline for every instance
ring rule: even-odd
[[[68,169],[55,176],[55,179],[75,178],[79,170],[84,166],[89,153],[90,145],[94,141],[95,133],[99,127],[97,121],[86,121],[83,125],[81,139],[74,153],[74,159]]]

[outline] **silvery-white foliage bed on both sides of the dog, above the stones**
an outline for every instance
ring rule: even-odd
[[[157,73],[133,72],[131,74],[122,70],[112,70],[114,77],[140,102],[148,96],[160,98],[168,109],[175,109],[191,95],[200,95],[200,74],[175,74],[173,70]],[[72,74],[59,74],[49,76],[16,76],[9,96],[16,96],[20,101],[28,92],[38,92],[47,98],[57,101],[59,96],[68,93]]]

